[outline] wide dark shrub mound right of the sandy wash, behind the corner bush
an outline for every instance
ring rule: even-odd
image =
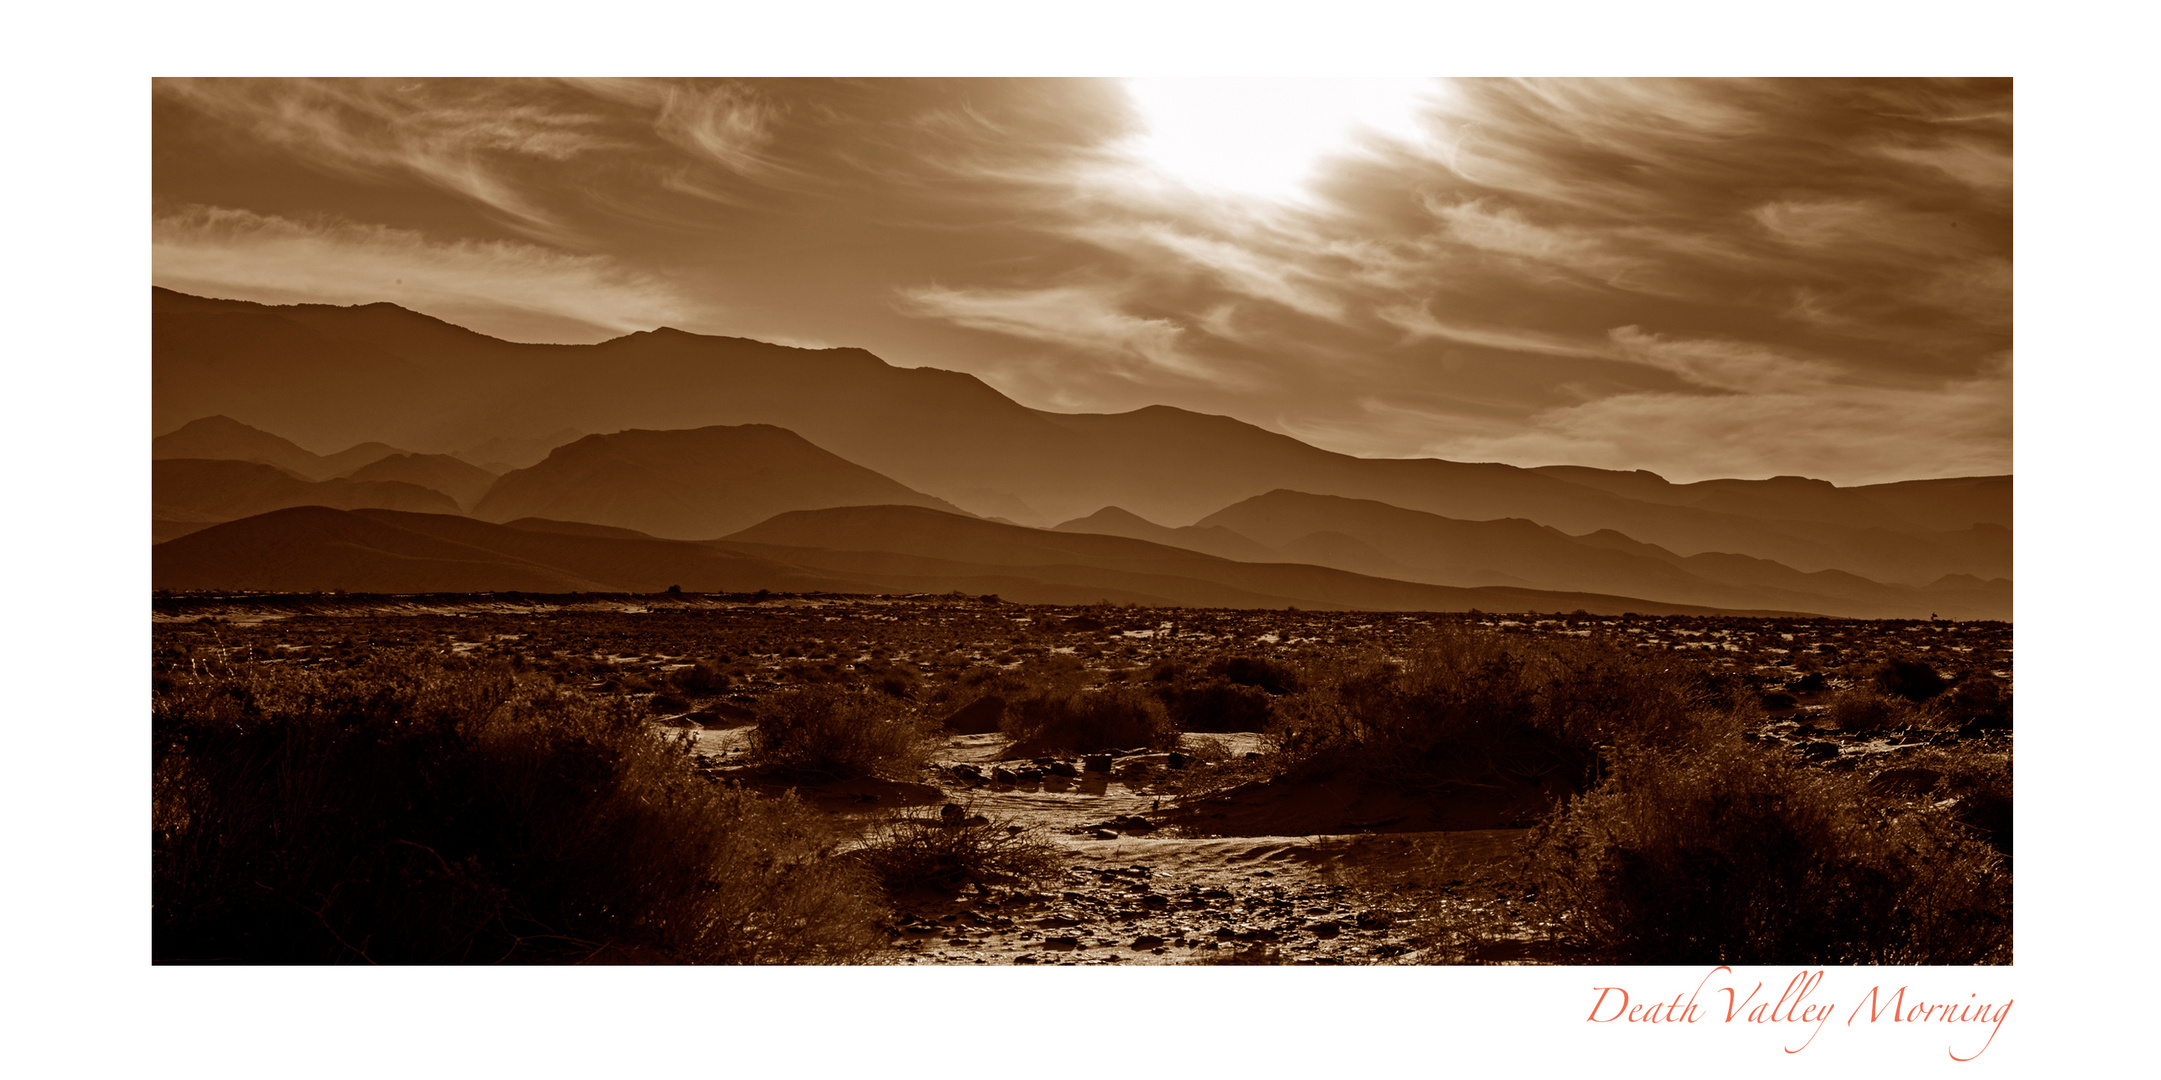
[[[1692,745],[1742,708],[1735,687],[1677,659],[1448,629],[1400,659],[1310,665],[1305,689],[1277,702],[1273,734],[1286,769],[1405,782],[1558,769],[1588,786],[1601,747]]]

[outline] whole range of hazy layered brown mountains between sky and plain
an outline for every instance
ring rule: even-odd
[[[266,307],[153,289],[153,410],[160,428],[173,428],[153,441],[160,540],[194,529],[238,542],[240,534],[203,525],[322,505],[376,527],[387,527],[376,510],[462,512],[480,518],[471,525],[599,525],[880,592],[1016,579],[977,592],[1020,598],[1016,590],[1037,585],[1115,585],[1152,603],[1210,594],[1245,607],[1506,609],[1493,596],[1424,592],[1504,590],[1524,603],[1539,596],[1536,609],[1586,607],[1545,598],[1582,594],[1636,598],[1627,607],[1636,611],[1655,603],[2010,618],[2010,477],[1670,484],[1642,471],[1368,460],[1165,406],[1033,410],[972,376],[890,367],[862,350],[666,328],[596,346],[523,346],[393,305]],[[346,449],[316,454],[285,436]],[[210,469],[214,460],[266,473]],[[862,518],[875,529],[862,531],[849,508],[882,508]],[[806,521],[819,525],[815,536],[789,531]],[[309,536],[328,536],[322,521],[313,527]],[[1048,540],[1057,536],[1068,540]],[[1074,562],[1059,544],[1083,536],[1145,542],[1150,553],[1087,549]],[[735,546],[713,549],[720,538]],[[789,551],[761,555],[761,544]],[[1182,555],[1163,562],[1160,551]],[[190,557],[197,570],[216,564]],[[771,566],[761,572],[778,575]],[[1284,566],[1342,577],[1292,581]],[[631,581],[616,570],[551,572]]]

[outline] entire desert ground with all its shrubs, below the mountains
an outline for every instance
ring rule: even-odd
[[[996,935],[1061,963],[2010,955],[2005,624],[519,603],[158,598],[158,957],[817,961],[869,942],[936,961]],[[923,739],[962,706],[957,728],[1022,741]],[[752,795],[789,786],[802,799]],[[1057,793],[1065,816],[895,810],[925,786],[1009,812]],[[1072,814],[1098,791],[1139,799]],[[1372,810],[1325,829],[1275,812],[1305,793]],[[1206,799],[1230,819],[1184,814]],[[1448,827],[1547,816],[1506,862],[1372,877],[1387,901],[1357,907],[1314,903],[1286,864],[1195,892],[1065,855],[1063,886],[1022,886],[1007,858],[1115,836],[1145,862],[1152,836],[1340,821],[1387,838],[1374,866],[1398,873],[1426,804],[1498,823]],[[1813,892],[1776,901],[1794,914],[1718,903],[1768,890]],[[1167,922],[1202,912],[1236,931],[1219,950]],[[1072,933],[1026,933],[1052,914]]]

